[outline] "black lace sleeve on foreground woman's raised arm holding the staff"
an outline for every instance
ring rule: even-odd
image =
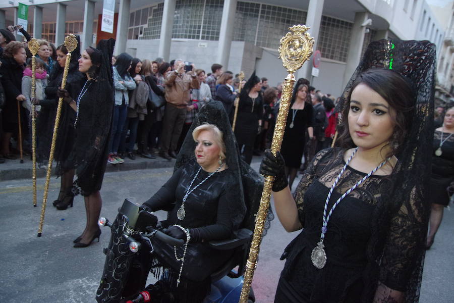
[[[314,179],[316,172],[317,172],[317,165],[320,163],[320,161],[323,159],[325,160],[330,160],[333,155],[333,149],[332,148],[326,148],[320,150],[317,155],[314,156],[312,159],[312,162],[309,163],[307,169],[304,171],[303,176],[301,176],[300,183],[298,183],[298,186],[295,190],[294,193],[294,198],[295,198],[295,203],[297,204],[297,209],[298,209],[298,218],[301,222],[301,225],[304,227],[304,217],[305,217],[305,212],[304,212],[304,194],[306,193],[307,188],[309,185],[311,185],[312,180]],[[331,156],[331,157],[329,157]]]

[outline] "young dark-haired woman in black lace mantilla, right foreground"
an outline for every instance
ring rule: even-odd
[[[282,157],[265,152],[279,220],[302,229],[275,302],[419,301],[434,69],[428,41],[372,42],[338,104],[339,147],[313,158],[294,196]]]

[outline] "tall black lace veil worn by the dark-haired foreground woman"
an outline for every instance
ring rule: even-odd
[[[364,302],[371,302],[377,285],[404,291],[404,302],[418,302],[429,216],[427,199],[433,140],[436,51],[429,41],[379,40],[369,44],[350,79],[336,112],[348,106],[357,77],[371,68],[388,68],[407,78],[415,91],[412,124],[390,176],[392,186],[372,217],[364,275]],[[344,117],[346,119],[346,117]],[[342,128],[342,126],[341,126]],[[405,248],[403,248],[405,247]],[[400,258],[393,258],[399,256]],[[394,259],[408,260],[394,264]],[[395,271],[384,272],[383,268]],[[379,282],[380,281],[380,282]]]

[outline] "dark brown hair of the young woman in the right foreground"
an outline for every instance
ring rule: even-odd
[[[412,105],[415,104],[415,95],[410,82],[400,74],[389,69],[369,69],[358,76],[350,90],[342,111],[343,121],[339,126],[340,135],[337,144],[347,148],[356,146],[350,136],[348,116],[352,92],[359,84],[365,84],[377,92],[395,112],[395,115],[391,115],[391,119],[394,122],[394,129],[388,143],[390,152],[386,157],[398,155],[403,147],[401,143],[405,142],[407,134],[411,129],[413,118]]]

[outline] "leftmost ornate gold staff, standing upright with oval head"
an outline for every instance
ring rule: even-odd
[[[32,53],[32,100],[36,97],[36,57],[35,55],[39,51],[38,40],[32,38],[28,42],[28,49]],[[33,169],[32,169],[32,180],[33,180],[33,207],[36,207],[36,124],[35,124],[35,104],[32,102],[32,160],[33,160]]]

